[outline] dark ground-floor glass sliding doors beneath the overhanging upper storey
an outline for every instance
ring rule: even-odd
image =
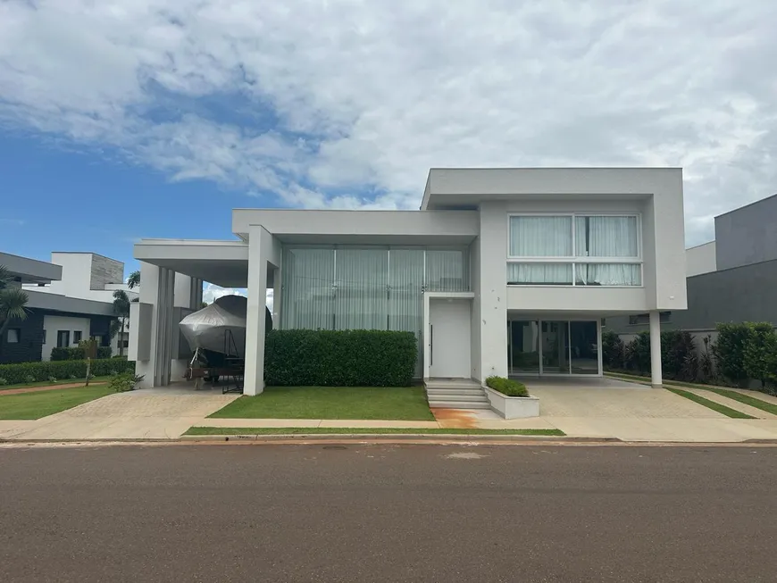
[[[507,321],[510,374],[600,374],[597,321]]]

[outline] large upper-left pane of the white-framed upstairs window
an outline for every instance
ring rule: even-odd
[[[510,217],[511,257],[571,257],[572,217]]]

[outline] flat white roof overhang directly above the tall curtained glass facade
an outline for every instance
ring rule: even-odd
[[[232,231],[247,240],[261,226],[300,245],[469,245],[478,235],[472,211],[308,211],[235,209]]]

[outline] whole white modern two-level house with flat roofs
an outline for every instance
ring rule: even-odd
[[[268,288],[280,329],[413,331],[423,379],[601,375],[603,318],[648,312],[657,332],[686,308],[680,169],[433,169],[419,211],[235,209],[232,231],[135,246],[146,384],[185,370],[178,321],[203,281],[247,288],[247,395],[264,387]]]

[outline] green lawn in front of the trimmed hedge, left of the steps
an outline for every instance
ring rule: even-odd
[[[423,387],[267,387],[210,417],[434,421]]]

